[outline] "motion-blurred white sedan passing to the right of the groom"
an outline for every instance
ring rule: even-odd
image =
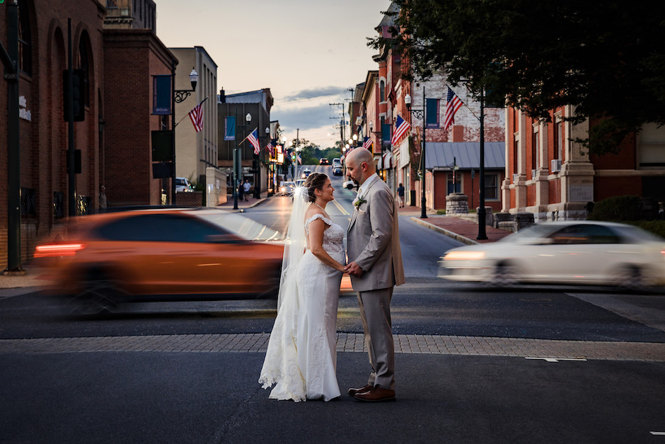
[[[665,239],[596,221],[533,225],[491,244],[452,249],[439,261],[449,280],[644,288],[665,284]]]

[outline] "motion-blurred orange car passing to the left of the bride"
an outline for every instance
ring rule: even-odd
[[[80,312],[135,300],[274,297],[283,254],[282,234],[247,217],[175,208],[79,217],[67,241],[35,249],[54,290],[73,296]]]

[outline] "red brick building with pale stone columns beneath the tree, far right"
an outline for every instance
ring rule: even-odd
[[[532,212],[538,221],[585,219],[585,206],[617,195],[665,201],[665,128],[644,125],[618,154],[589,155],[586,138],[594,120],[572,125],[572,107],[553,110],[551,122],[509,108],[503,212]]]

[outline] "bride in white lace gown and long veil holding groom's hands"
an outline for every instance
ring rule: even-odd
[[[340,396],[337,365],[337,303],[344,271],[344,229],[325,205],[334,200],[330,178],[311,173],[296,190],[284,248],[277,318],[259,382],[272,399]]]

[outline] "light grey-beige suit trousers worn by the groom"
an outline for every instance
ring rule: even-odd
[[[358,292],[365,347],[372,367],[369,385],[395,389],[395,346],[391,324],[393,287]]]

